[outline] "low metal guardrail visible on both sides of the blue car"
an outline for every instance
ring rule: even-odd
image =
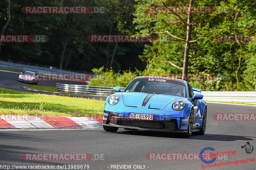
[[[121,88],[121,91],[124,87]],[[103,86],[90,86],[90,85],[71,85],[71,84],[56,84],[57,92],[75,92],[75,93],[87,93],[97,95],[110,95],[115,93],[113,87]],[[198,92],[197,92],[198,93]],[[256,92],[205,92],[202,91],[204,100],[208,101],[234,101],[245,103],[256,103]]]

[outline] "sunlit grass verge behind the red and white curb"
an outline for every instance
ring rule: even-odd
[[[104,102],[0,88],[1,115],[101,117]]]

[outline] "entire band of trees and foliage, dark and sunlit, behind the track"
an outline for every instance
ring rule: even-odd
[[[6,20],[6,5],[6,0],[0,0],[0,28]],[[50,39],[47,43],[3,43],[0,58],[56,67],[61,65],[62,58],[63,68],[100,74],[90,82],[90,85],[100,86],[126,86],[136,76],[146,74],[181,73],[186,25],[172,13],[146,12],[148,6],[163,5],[188,6],[188,1],[11,1],[12,18],[5,34],[45,34]],[[105,6],[107,11],[99,14],[24,14],[21,12],[23,6]],[[222,11],[192,14],[191,40],[204,38],[190,43],[188,73],[216,76],[213,80],[190,84],[207,91],[254,91],[256,42],[216,42],[214,36],[254,36],[255,0],[194,0],[194,6],[215,6]],[[179,15],[187,19],[187,14]],[[161,33],[164,31],[181,40]],[[158,39],[152,43],[118,44],[87,41],[88,35],[108,34],[153,34]],[[69,41],[63,48],[62,42],[66,40]]]

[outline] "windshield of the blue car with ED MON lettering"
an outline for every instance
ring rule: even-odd
[[[124,92],[144,92],[151,94],[165,94],[172,96],[187,97],[186,86],[182,82],[163,79],[135,79]]]

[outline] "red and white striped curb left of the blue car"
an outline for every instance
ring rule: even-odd
[[[1,115],[0,129],[100,129],[102,117]]]

